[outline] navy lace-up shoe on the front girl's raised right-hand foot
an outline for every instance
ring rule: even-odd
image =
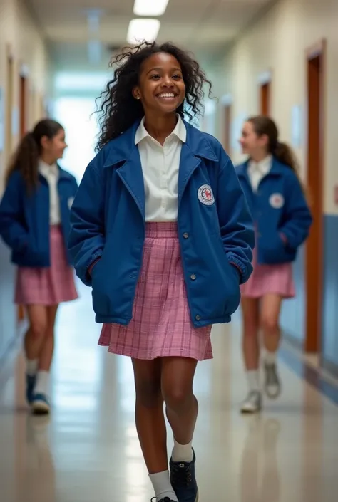
[[[178,502],[197,502],[198,486],[195,477],[196,456],[193,461],[174,462],[170,459],[170,482],[178,498]]]

